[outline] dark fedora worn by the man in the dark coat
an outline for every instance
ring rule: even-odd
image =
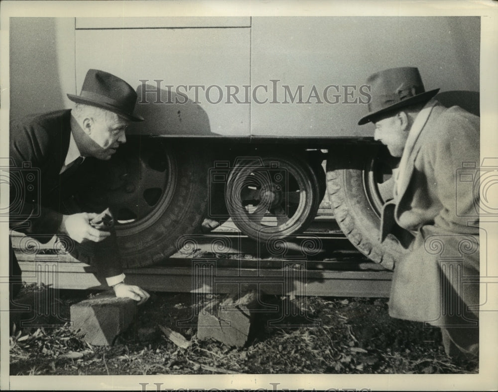
[[[143,117],[133,114],[136,102],[133,87],[108,72],[88,70],[80,95],[67,96],[74,102],[109,110],[130,121],[143,121]]]

